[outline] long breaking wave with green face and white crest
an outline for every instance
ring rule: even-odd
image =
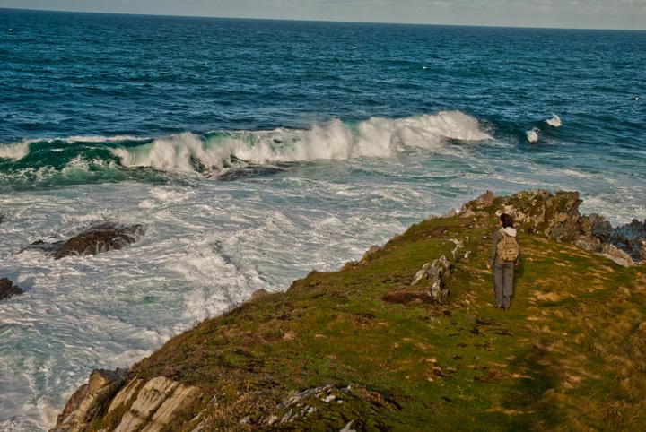
[[[86,160],[94,168],[116,165],[214,172],[240,164],[388,158],[406,148],[441,150],[450,140],[477,142],[489,138],[475,117],[442,111],[400,119],[372,117],[362,122],[335,119],[310,129],[187,132],[154,139],[118,135],[22,141],[0,144],[0,166],[5,171],[60,171],[68,163],[74,161],[78,167],[79,160]]]

